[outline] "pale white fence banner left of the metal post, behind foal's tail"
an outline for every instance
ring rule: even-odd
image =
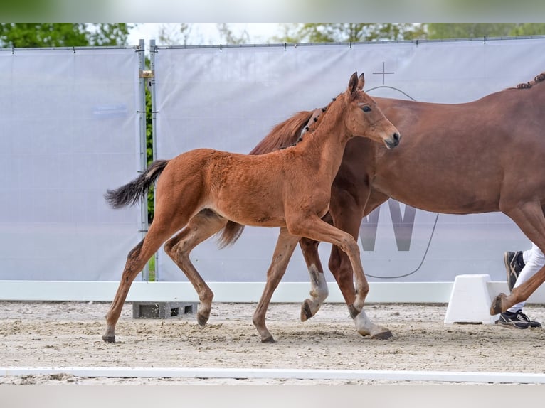
[[[118,280],[140,209],[102,195],[139,169],[134,48],[1,50],[0,279]]]

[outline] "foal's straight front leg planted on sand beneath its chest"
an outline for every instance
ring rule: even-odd
[[[287,263],[290,262],[293,250],[299,239],[300,237],[290,235],[290,233],[287,232],[287,228],[280,228],[280,235],[276,242],[275,253],[272,255],[272,262],[267,271],[265,289],[263,289],[263,294],[261,295],[261,299],[259,299],[258,307],[255,308],[255,312],[253,313],[253,324],[261,335],[262,343],[275,343],[275,339],[268,331],[267,326],[265,326],[265,313],[267,313],[272,294],[286,272]]]

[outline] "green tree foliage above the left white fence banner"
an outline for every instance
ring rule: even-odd
[[[127,23],[0,23],[0,47],[126,45]]]

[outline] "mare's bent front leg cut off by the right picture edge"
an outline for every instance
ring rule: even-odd
[[[531,242],[534,242],[541,252],[545,251],[545,216],[539,203],[525,203],[511,210],[505,210]],[[545,253],[545,252],[544,252]],[[533,277],[521,286],[513,289],[510,295],[499,294],[492,301],[490,314],[502,313],[521,301],[525,301],[545,281],[545,266],[541,267]]]

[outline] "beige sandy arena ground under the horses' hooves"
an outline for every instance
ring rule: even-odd
[[[101,335],[110,304],[0,302],[1,367],[242,367],[342,370],[544,372],[545,331],[497,325],[448,325],[446,305],[367,305],[368,316],[393,338],[371,340],[354,329],[343,304],[324,304],[299,320],[299,304],[272,304],[274,344],[260,343],[252,324],[255,304],[213,304],[205,328],[194,314],[133,319],[125,304],[117,343]],[[525,312],[545,323],[545,307]],[[372,384],[371,380],[266,380],[193,378],[87,378],[73,375],[0,377],[0,385],[51,384]],[[391,383],[381,381],[379,383]],[[429,384],[429,382],[428,382]],[[433,384],[433,382],[432,382]]]

